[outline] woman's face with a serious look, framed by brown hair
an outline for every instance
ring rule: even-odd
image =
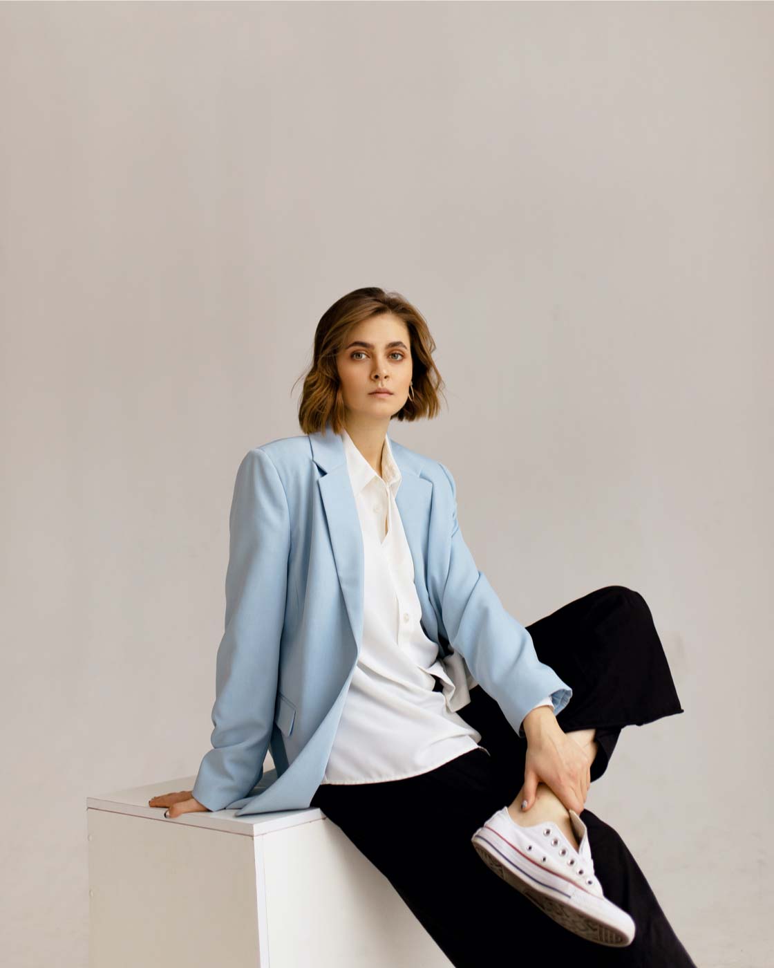
[[[413,370],[408,327],[402,319],[385,313],[359,322],[344,340],[336,362],[347,417],[389,423],[408,398]],[[377,386],[391,390],[391,395],[374,394]]]

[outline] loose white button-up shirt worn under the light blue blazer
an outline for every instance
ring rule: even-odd
[[[448,667],[437,658],[438,645],[420,623],[390,439],[382,448],[383,477],[345,430],[342,439],[363,533],[363,637],[321,782],[375,783],[434,770],[476,749],[481,734],[456,711],[469,702],[475,680],[460,656]],[[433,691],[433,676],[441,692]],[[551,697],[537,705],[552,706]]]

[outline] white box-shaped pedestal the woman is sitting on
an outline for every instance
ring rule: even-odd
[[[194,779],[87,799],[90,968],[449,968],[321,810],[148,806]]]

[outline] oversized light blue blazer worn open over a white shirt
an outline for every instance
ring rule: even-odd
[[[516,731],[548,695],[558,713],[572,689],[476,567],[451,473],[390,442],[422,628],[438,657],[459,652]],[[328,425],[249,451],[229,531],[212,749],[193,796],[237,816],[302,809],[324,775],[363,630],[363,539],[341,436]],[[267,750],[274,770],[264,774]]]

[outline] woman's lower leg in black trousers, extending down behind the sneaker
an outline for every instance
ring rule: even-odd
[[[579,968],[696,968],[626,845],[590,810],[582,816],[595,871],[637,923],[628,947],[603,947],[568,931],[492,873],[470,838],[502,798],[501,774],[478,749],[404,780],[324,784],[312,805],[387,878],[455,968],[503,959]]]

